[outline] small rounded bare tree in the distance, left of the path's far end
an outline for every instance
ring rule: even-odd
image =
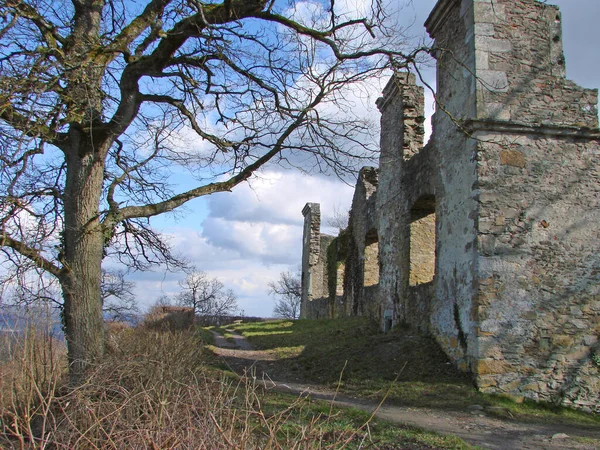
[[[206,272],[192,269],[184,280],[179,282],[182,291],[177,302],[194,308],[196,315],[212,321],[237,311],[237,298],[231,289]]]

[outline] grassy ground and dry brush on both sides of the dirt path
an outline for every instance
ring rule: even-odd
[[[333,386],[345,365],[340,388],[361,397],[380,399],[389,388],[393,403],[476,403],[520,418],[562,415],[565,422],[598,426],[597,418],[574,411],[482,396],[435,353],[434,343],[406,330],[382,335],[364,319],[228,328],[277,355],[281,374]],[[219,367],[205,350],[210,339],[208,330],[114,328],[105,359],[76,388],[66,384],[64,344],[36,330],[11,340],[0,361],[0,448],[473,448],[360,410],[266,391],[252,374]],[[427,352],[416,350],[423,345]]]

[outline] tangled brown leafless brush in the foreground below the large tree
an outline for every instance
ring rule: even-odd
[[[304,400],[266,414],[255,379],[215,376],[194,334],[138,328],[112,337],[106,359],[74,389],[58,388],[60,365],[47,376],[35,358],[22,359],[27,377],[13,379],[23,385],[2,405],[0,448],[326,448],[318,420],[288,423]]]

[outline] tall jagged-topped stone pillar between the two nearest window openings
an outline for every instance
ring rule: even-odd
[[[380,321],[386,329],[398,322],[426,321],[428,306],[409,298],[409,215],[416,201],[408,193],[433,192],[432,148],[423,147],[424,93],[413,74],[398,74],[377,101],[381,111],[381,142],[377,213],[379,230]],[[407,170],[407,166],[417,170]],[[415,189],[415,187],[417,187]],[[422,324],[426,329],[427,325]]]

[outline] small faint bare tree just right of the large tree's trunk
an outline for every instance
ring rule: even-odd
[[[139,308],[133,294],[134,287],[135,283],[125,280],[124,271],[103,269],[100,292],[104,316],[121,322],[135,320]]]

